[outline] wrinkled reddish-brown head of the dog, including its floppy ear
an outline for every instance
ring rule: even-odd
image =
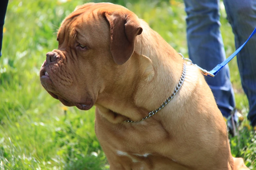
[[[137,16],[110,3],[79,6],[61,23],[58,50],[46,54],[40,80],[66,106],[90,109],[134,52]]]

